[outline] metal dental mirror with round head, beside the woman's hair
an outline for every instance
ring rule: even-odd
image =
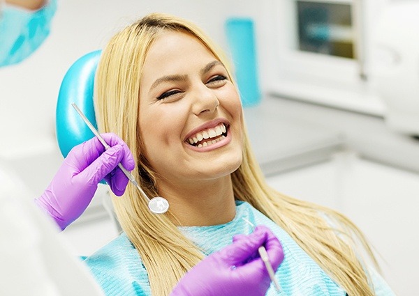
[[[80,115],[80,117],[82,118],[82,120],[84,121],[84,123],[87,124],[87,126],[89,127],[89,129],[91,130],[91,132],[93,132],[94,135],[96,136],[96,138],[98,138],[98,140],[102,143],[102,145],[105,147],[105,150],[108,150],[110,148],[110,146],[101,137],[101,134],[99,134],[99,132],[96,130],[96,128],[90,123],[89,119],[87,119],[87,117],[84,116],[83,112],[79,109],[79,107],[75,103],[71,103],[71,105],[74,107],[75,111],[77,111],[77,113]],[[140,185],[138,185],[138,182],[135,181],[135,178],[132,175],[132,173],[130,173],[129,171],[127,171],[124,168],[124,166],[122,166],[122,164],[120,162],[118,164],[118,167],[124,173],[124,175],[126,176],[126,178],[128,178],[128,180],[130,180],[130,182],[133,183],[133,185],[135,187],[137,187],[138,191],[140,191],[140,194],[142,196],[144,196],[144,198],[147,201],[147,205],[148,205],[148,208],[149,208],[150,211],[152,211],[154,214],[164,214],[165,212],[168,211],[168,209],[169,209],[169,203],[166,200],[166,198],[163,198],[161,196],[156,196],[156,197],[150,199],[147,196],[147,194],[145,194],[145,192],[142,190],[142,188],[140,187]]]

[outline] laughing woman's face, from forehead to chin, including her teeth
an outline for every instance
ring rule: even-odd
[[[149,49],[140,84],[142,153],[159,187],[215,180],[240,166],[240,98],[226,68],[198,39],[163,33]]]

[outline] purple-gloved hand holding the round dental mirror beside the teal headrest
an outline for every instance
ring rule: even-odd
[[[135,164],[131,151],[116,134],[101,136],[111,148],[105,150],[96,137],[75,146],[45,192],[35,200],[61,230],[82,215],[102,179],[117,196],[122,196],[128,185],[128,178],[117,165],[121,162],[132,171]]]

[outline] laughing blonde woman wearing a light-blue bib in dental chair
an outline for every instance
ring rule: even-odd
[[[153,215],[131,185],[114,196],[124,233],[86,260],[108,295],[168,295],[205,256],[250,233],[247,220],[281,241],[275,276],[287,295],[392,295],[360,260],[359,241],[374,256],[351,221],[266,185],[228,62],[195,25],[152,14],[117,33],[98,65],[95,109],[100,132],[130,148],[147,195],[170,203]]]

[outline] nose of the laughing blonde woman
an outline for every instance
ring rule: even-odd
[[[219,104],[220,102],[211,88],[208,88],[205,84],[196,86],[193,91],[193,114],[198,116],[204,113],[212,113],[219,107]]]

